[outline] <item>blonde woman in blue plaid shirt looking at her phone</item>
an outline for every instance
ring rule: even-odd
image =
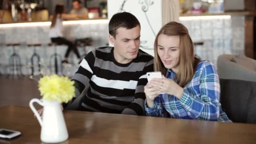
[[[146,115],[231,122],[219,102],[216,68],[211,62],[195,57],[184,25],[165,24],[155,38],[154,51],[155,71],[163,75],[144,88]]]

